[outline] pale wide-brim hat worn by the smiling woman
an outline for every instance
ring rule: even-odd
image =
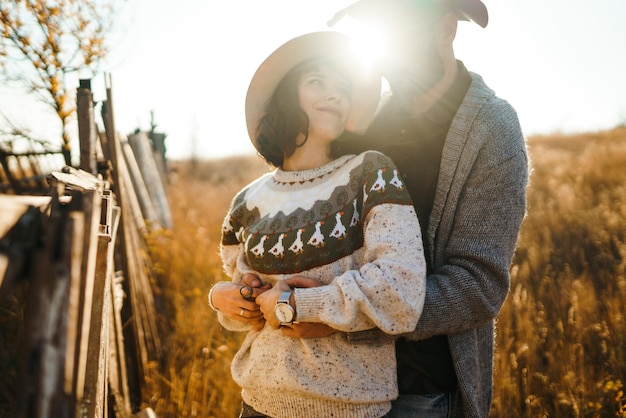
[[[345,129],[363,133],[374,118],[381,96],[381,77],[358,59],[353,38],[335,31],[312,32],[278,47],[254,73],[246,95],[246,125],[255,147],[259,121],[280,81],[298,64],[329,57],[351,70],[352,97]]]

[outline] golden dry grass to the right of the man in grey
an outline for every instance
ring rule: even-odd
[[[626,128],[529,149],[493,415],[626,416]]]

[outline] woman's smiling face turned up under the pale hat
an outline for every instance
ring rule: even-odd
[[[350,112],[349,81],[328,64],[305,71],[298,82],[300,107],[309,118],[308,141],[332,141],[341,135]]]

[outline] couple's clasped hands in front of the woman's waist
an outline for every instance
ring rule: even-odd
[[[290,288],[322,285],[323,283],[317,279],[292,276],[289,279],[276,282],[272,287],[269,283],[263,283],[256,275],[246,273],[240,283],[221,282],[216,284],[212,291],[211,301],[213,306],[224,315],[236,321],[250,324],[256,331],[260,331],[267,323],[274,329],[281,328],[282,333],[291,338],[326,337],[336,330],[317,322],[298,322],[281,327],[274,315],[274,307],[281,292]]]

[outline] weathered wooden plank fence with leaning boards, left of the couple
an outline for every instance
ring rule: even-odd
[[[0,195],[0,295],[28,281],[19,418],[154,416],[140,410],[161,355],[146,237],[172,221],[148,136],[115,131],[106,84],[104,132],[90,81],[77,92],[80,167],[46,175],[46,196]]]

